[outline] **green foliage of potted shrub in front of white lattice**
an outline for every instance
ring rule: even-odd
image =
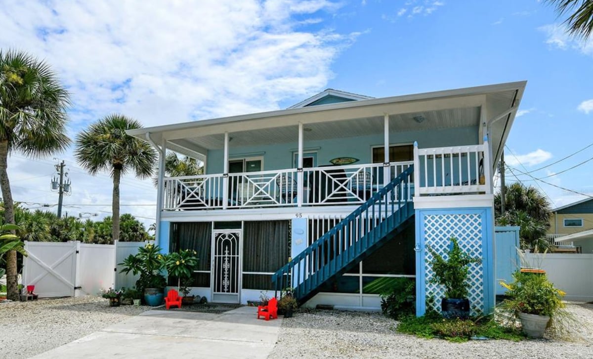
[[[451,248],[447,252],[446,260],[433,248],[429,247],[428,250],[433,256],[431,265],[435,274],[431,283],[444,286],[447,298],[467,298],[467,290],[470,287],[470,284],[467,283],[468,265],[480,263],[482,259],[472,258],[462,251],[455,238],[451,238]]]

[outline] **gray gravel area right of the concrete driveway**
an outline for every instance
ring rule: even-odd
[[[576,342],[561,339],[469,341],[421,339],[391,330],[380,313],[314,310],[282,322],[270,359],[279,358],[593,358],[593,304],[569,304]]]

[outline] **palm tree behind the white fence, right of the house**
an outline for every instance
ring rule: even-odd
[[[500,213],[500,192],[494,196],[496,224],[499,226],[519,226],[521,247],[533,251],[551,249],[546,240],[546,232],[550,227],[550,202],[537,188],[515,182],[506,186],[505,214]]]

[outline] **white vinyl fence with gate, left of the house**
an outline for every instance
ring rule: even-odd
[[[132,287],[138,278],[119,273],[117,263],[145,244],[25,241],[28,256],[23,258],[23,286],[35,286],[42,298],[97,295],[101,289]]]

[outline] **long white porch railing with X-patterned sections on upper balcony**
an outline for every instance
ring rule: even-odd
[[[168,177],[164,181],[164,210],[246,209],[254,207],[335,206],[364,203],[387,181],[413,162],[327,166],[303,169],[302,198],[298,198],[297,169],[225,175]],[[404,193],[405,191],[405,193]],[[413,185],[398,198],[412,198]],[[226,195],[224,195],[226,194]],[[224,200],[223,198],[228,198]]]

